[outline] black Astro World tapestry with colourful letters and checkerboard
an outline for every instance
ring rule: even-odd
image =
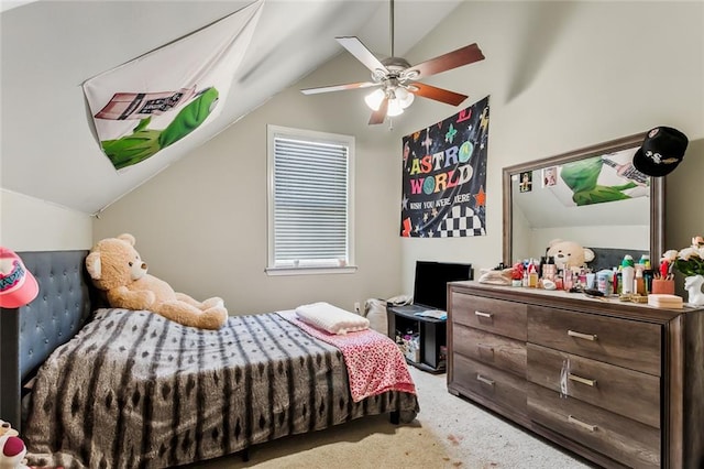
[[[403,139],[400,236],[486,234],[488,96]]]

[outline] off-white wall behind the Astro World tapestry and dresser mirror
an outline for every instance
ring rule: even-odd
[[[417,259],[466,261],[476,269],[501,261],[504,166],[659,124],[690,140],[703,138],[703,31],[702,2],[463,2],[406,58],[414,64],[473,42],[486,56],[428,83],[470,95],[466,106],[491,96],[487,236],[402,240],[403,288],[413,285]],[[416,100],[396,134],[454,112]],[[683,189],[669,185],[668,196]],[[701,210],[695,217],[701,230]]]

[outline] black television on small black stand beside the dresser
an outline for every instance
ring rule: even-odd
[[[448,282],[473,277],[472,264],[416,261],[414,304],[447,310]]]

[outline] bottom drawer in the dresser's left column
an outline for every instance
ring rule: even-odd
[[[501,407],[526,414],[526,380],[458,353],[454,383]],[[461,370],[461,371],[460,371]]]

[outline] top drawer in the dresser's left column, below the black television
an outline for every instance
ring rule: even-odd
[[[520,303],[455,293],[452,295],[453,324],[463,324],[517,340],[526,340],[527,306]]]

